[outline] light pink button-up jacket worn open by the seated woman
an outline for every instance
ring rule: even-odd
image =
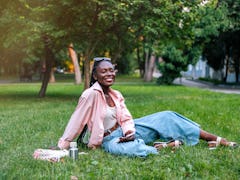
[[[128,111],[122,94],[110,89],[116,109],[117,122],[123,133],[131,130],[135,132],[134,121]],[[91,132],[88,147],[95,149],[102,144],[104,127],[103,120],[107,108],[106,99],[101,86],[96,82],[92,87],[85,90],[79,98],[78,105],[72,114],[63,136],[58,141],[58,147],[68,149],[70,141],[73,141],[82,132],[85,124]]]

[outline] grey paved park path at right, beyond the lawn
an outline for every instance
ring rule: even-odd
[[[222,92],[226,94],[240,94],[240,85],[214,85],[209,82],[203,82],[199,80],[190,80],[186,78],[178,78],[174,81],[174,84],[180,84],[189,87],[198,87],[202,89],[208,89],[214,92]]]

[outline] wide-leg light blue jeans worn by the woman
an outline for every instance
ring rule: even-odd
[[[134,123],[136,128],[134,141],[118,143],[119,137],[123,136],[119,127],[104,137],[103,149],[117,155],[146,157],[149,154],[158,154],[155,147],[147,145],[157,139],[181,140],[186,145],[195,145],[199,142],[199,125],[176,112],[158,112],[135,119]]]

